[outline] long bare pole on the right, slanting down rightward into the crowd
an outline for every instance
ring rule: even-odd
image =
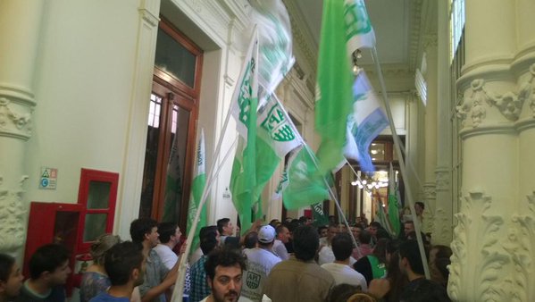
[[[375,47],[372,48],[372,57],[373,57],[373,62],[375,63],[375,68],[377,69],[377,74],[379,75],[380,90],[381,90],[380,92],[385,102],[385,109],[387,111],[387,116],[389,117],[390,131],[392,132],[392,138],[394,138],[394,147],[396,148],[397,158],[399,160],[399,170],[401,171],[401,176],[403,177],[403,180],[405,181],[405,184],[406,184],[405,189],[406,189],[406,193],[409,199],[409,208],[411,209],[411,214],[413,214],[413,217],[414,217],[414,230],[416,231],[416,239],[418,241],[420,255],[422,256],[423,271],[425,273],[425,278],[431,279],[431,275],[429,273],[429,264],[427,262],[427,256],[425,256],[425,248],[423,247],[422,232],[421,232],[422,229],[420,226],[420,222],[418,221],[418,217],[416,216],[416,210],[414,209],[413,192],[412,192],[409,178],[405,169],[405,160],[403,159],[403,154],[401,153],[401,140],[397,136],[396,126],[394,125],[394,119],[392,118],[392,112],[390,110],[387,87],[385,85],[385,81],[382,76],[382,71],[380,70],[379,57],[377,55],[377,49]]]

